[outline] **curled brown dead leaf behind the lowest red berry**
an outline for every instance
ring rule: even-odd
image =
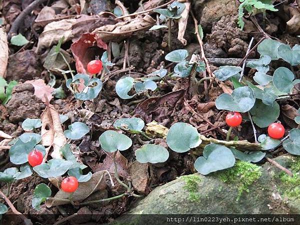
[[[104,190],[107,186],[105,181],[105,174],[109,174],[108,171],[98,171],[91,175],[91,178],[86,182],[79,182],[79,186],[75,192],[73,192],[73,201],[82,201],[95,191]],[[68,199],[69,193],[63,190],[58,190],[54,198]],[[46,200],[46,206],[51,207],[55,205],[67,204],[66,201],[61,200]]]

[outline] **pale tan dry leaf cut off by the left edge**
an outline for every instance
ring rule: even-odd
[[[0,77],[5,77],[5,71],[8,61],[8,43],[7,34],[2,27],[0,27]]]

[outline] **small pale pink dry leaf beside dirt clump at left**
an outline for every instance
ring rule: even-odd
[[[44,95],[47,96],[48,100],[51,100],[53,98],[52,92],[54,88],[46,85],[43,79],[27,80],[25,81],[25,83],[32,84],[32,86],[34,87],[34,95],[40,98],[43,102],[46,101]]]

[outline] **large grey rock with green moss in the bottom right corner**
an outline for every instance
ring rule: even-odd
[[[234,167],[203,176],[191,174],[156,187],[129,214],[269,214],[300,213],[300,159],[275,158],[296,176],[269,162],[237,162]],[[292,194],[291,194],[292,193]],[[299,195],[297,195],[299,193]]]

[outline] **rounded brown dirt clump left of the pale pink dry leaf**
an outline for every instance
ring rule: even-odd
[[[10,122],[40,117],[45,106],[33,93],[34,87],[30,83],[21,83],[13,88],[11,99],[6,105]]]

